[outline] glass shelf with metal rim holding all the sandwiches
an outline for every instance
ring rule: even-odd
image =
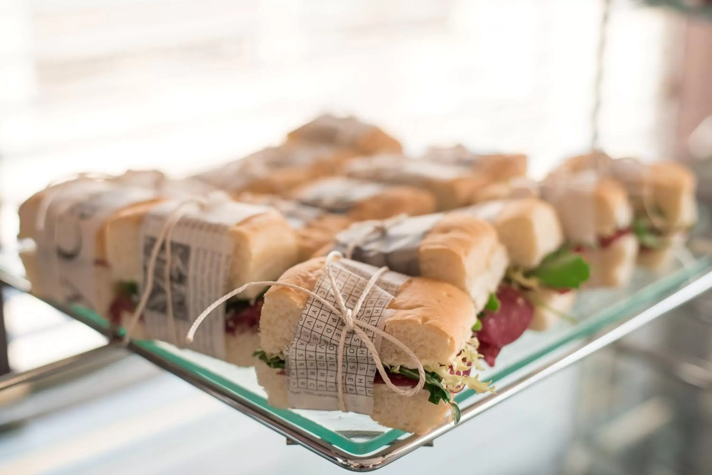
[[[16,256],[0,256],[1,281],[28,291],[29,283],[21,276]],[[528,330],[503,348],[496,367],[481,373],[481,380],[496,386],[495,395],[471,390],[457,395],[463,411],[460,424],[711,287],[712,260],[691,254],[684,265],[678,263],[665,273],[638,269],[627,288],[582,291],[572,312],[578,323],[561,320],[545,332]],[[110,332],[108,323],[90,310],[54,306],[96,330]],[[381,427],[362,414],[275,409],[267,404],[252,368],[155,341],[135,340],[128,348],[347,469],[378,468],[456,427],[448,423],[418,436]]]

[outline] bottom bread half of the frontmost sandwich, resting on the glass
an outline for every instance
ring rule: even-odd
[[[267,393],[267,403],[279,409],[288,409],[287,377],[284,370],[268,367],[256,360],[257,382]],[[384,427],[394,427],[405,432],[424,434],[448,417],[450,406],[444,401],[433,404],[427,391],[407,397],[393,392],[383,384],[373,385],[373,412],[371,419]]]

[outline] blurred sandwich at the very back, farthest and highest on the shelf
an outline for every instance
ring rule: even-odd
[[[288,144],[323,144],[352,150],[359,155],[401,153],[398,140],[375,125],[354,117],[320,115],[287,135]]]

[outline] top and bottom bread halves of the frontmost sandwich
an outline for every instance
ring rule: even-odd
[[[313,290],[323,272],[325,258],[317,258],[290,268],[279,280]],[[266,353],[286,353],[308,298],[306,293],[291,288],[273,286],[267,291],[260,322],[261,348]],[[465,293],[428,278],[409,278],[399,286],[388,308],[393,313],[386,320],[384,331],[412,350],[425,366],[453,361],[471,337],[471,326],[476,321],[475,309]],[[384,365],[413,365],[402,350],[386,339],[382,339],[379,357]],[[269,404],[289,407],[284,371],[258,361],[256,372]],[[432,404],[428,397],[426,390],[405,397],[376,383],[371,417],[386,427],[427,432],[443,422],[450,411],[445,402]]]

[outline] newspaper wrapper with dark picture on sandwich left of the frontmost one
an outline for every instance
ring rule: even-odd
[[[140,290],[145,288],[150,255],[167,216],[176,202],[165,202],[151,210],[141,226],[139,244],[143,276]],[[173,229],[170,282],[175,335],[170,333],[165,282],[166,246],[159,251],[153,274],[153,288],[143,313],[150,338],[184,346],[193,321],[214,301],[223,296],[228,286],[234,241],[231,226],[249,216],[273,212],[266,207],[235,202],[215,204],[209,209],[189,210]],[[206,318],[187,348],[220,359],[225,358],[225,306],[214,310],[217,315]]]

